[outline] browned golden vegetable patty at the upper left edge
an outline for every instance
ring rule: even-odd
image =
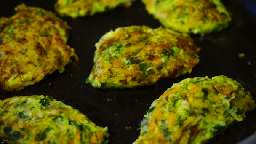
[[[23,89],[77,59],[67,42],[69,27],[53,13],[21,4],[10,18],[0,18],[0,84]]]

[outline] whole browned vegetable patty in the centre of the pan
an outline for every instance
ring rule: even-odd
[[[187,34],[159,27],[120,27],[96,43],[87,83],[98,88],[153,85],[160,78],[190,73],[200,48]]]

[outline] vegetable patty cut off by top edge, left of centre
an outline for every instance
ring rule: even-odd
[[[103,13],[119,5],[130,6],[132,0],[58,0],[56,11],[62,16],[93,16]]]

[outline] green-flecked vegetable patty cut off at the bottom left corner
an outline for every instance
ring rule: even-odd
[[[9,144],[103,144],[107,130],[51,96],[0,100],[0,137]]]

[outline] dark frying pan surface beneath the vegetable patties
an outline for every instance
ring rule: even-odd
[[[54,11],[56,0],[4,0],[0,3],[0,16],[11,16],[13,8],[25,3]],[[39,83],[21,91],[0,90],[0,99],[12,96],[51,95],[87,115],[100,126],[108,126],[109,144],[131,144],[139,136],[139,123],[150,104],[173,83],[188,77],[226,75],[240,82],[256,99],[256,4],[255,0],[223,0],[232,13],[232,23],[221,32],[191,35],[202,48],[200,63],[191,74],[176,79],[160,80],[149,87],[102,90],[85,83],[93,67],[94,44],[104,33],[117,27],[147,25],[157,28],[160,23],[149,15],[137,0],[129,8],[116,8],[106,13],[78,19],[62,18],[70,30],[68,44],[80,58],[77,65],[69,65],[64,73],[54,72]],[[240,59],[239,53],[245,53]],[[215,136],[210,144],[233,144],[246,137],[256,138],[256,111]],[[254,139],[255,140],[255,139]],[[3,141],[0,140],[4,144]],[[252,142],[253,143],[253,142]],[[252,144],[251,143],[251,144]]]

